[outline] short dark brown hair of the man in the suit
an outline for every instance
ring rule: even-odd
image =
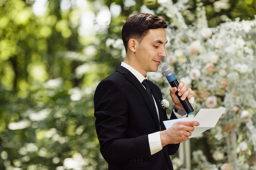
[[[126,20],[122,29],[122,39],[127,52],[128,41],[131,38],[141,42],[150,29],[167,28],[164,19],[149,13],[139,13]]]

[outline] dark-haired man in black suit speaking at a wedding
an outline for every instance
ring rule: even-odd
[[[122,38],[126,57],[112,75],[103,79],[94,94],[95,126],[101,154],[109,170],[173,170],[169,155],[186,141],[198,126],[196,121],[179,121],[166,129],[168,120],[160,101],[159,87],[148,81],[153,102],[143,85],[147,72],[155,72],[167,43],[166,22],[151,14],[139,13],[126,21]],[[194,96],[183,82],[170,90],[174,108],[170,119],[186,117],[182,100]]]

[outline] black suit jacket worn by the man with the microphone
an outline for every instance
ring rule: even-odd
[[[162,93],[150,82],[159,110],[161,129],[167,120],[160,104]],[[148,134],[159,131],[159,121],[146,89],[126,68],[103,79],[94,94],[95,126],[101,154],[109,170],[173,170],[169,155],[179,144],[170,144],[150,155]],[[172,113],[172,118],[177,118]]]

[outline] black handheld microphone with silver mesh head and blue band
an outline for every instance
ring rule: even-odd
[[[173,74],[173,68],[171,66],[165,65],[162,68],[162,74],[167,78],[168,82],[172,87],[178,87],[179,82],[177,81],[175,75]],[[180,100],[180,103],[186,110],[187,114],[192,114],[194,112],[194,109],[192,108],[191,104],[189,103],[189,100],[186,98],[185,100],[181,100],[180,96],[178,95],[178,91],[175,92],[176,96]]]

